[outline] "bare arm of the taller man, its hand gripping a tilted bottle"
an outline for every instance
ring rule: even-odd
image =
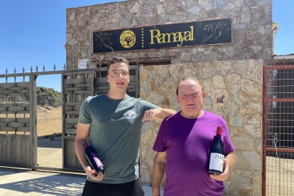
[[[85,148],[82,146],[83,141],[87,141],[89,134],[90,124],[77,123],[77,136],[75,137],[75,153],[79,158],[82,168],[85,170],[89,178],[92,180],[102,180],[103,173],[99,172],[97,176],[94,175],[95,171],[89,166],[85,156]]]

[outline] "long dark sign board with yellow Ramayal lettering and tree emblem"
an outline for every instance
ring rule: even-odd
[[[232,43],[230,18],[93,32],[93,53]]]

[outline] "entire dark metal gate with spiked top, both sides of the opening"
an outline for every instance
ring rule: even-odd
[[[0,166],[55,170],[37,166],[36,126],[36,78],[55,74],[62,75],[62,170],[82,171],[75,154],[80,106],[88,96],[108,92],[107,67],[0,75]],[[138,97],[138,65],[130,65],[127,93]]]

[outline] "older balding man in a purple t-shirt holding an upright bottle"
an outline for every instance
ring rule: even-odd
[[[197,80],[180,82],[177,98],[181,111],[163,120],[153,150],[153,196],[160,195],[166,170],[164,195],[222,195],[224,180],[235,163],[234,146],[222,117],[202,110],[205,92]],[[209,150],[222,126],[224,173],[209,175]]]

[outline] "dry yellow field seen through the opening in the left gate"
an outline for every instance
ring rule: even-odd
[[[62,107],[37,107],[37,135],[62,133]]]

